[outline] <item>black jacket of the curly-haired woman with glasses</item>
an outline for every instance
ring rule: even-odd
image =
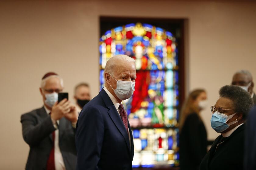
[[[242,170],[244,159],[244,130],[245,124],[242,124],[227,138],[219,135],[202,160],[199,169]],[[219,144],[218,147],[217,144]]]

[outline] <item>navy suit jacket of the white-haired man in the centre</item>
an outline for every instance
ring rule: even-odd
[[[132,170],[133,136],[104,89],[88,102],[76,123],[77,170]]]

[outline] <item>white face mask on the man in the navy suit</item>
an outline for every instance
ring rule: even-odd
[[[109,75],[116,80],[110,73]],[[113,89],[113,87],[110,85],[110,87]],[[122,80],[116,80],[116,89],[114,90],[114,93],[116,96],[121,100],[129,99],[133,95],[133,91],[135,90],[135,82],[132,81],[122,81]]]

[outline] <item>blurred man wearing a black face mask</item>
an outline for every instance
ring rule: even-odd
[[[76,101],[77,109],[80,112],[85,104],[91,99],[90,87],[87,83],[79,83],[75,87],[74,99]]]

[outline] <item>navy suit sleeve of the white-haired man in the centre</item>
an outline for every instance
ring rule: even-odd
[[[76,170],[98,169],[103,137],[103,117],[98,108],[88,106],[79,115],[76,124]]]

